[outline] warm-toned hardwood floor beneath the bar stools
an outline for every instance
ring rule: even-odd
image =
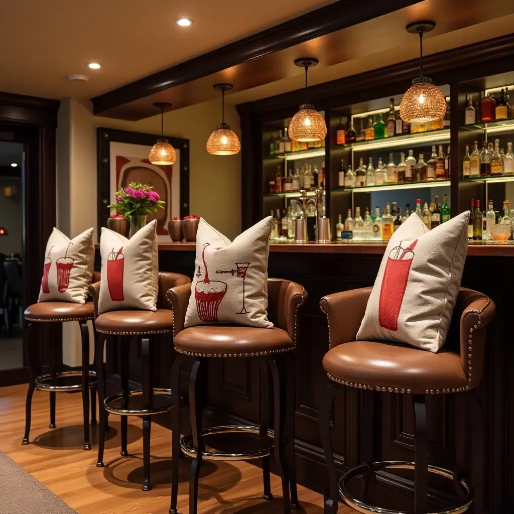
[[[171,433],[152,424],[152,483],[149,492],[141,491],[142,431],[139,418],[128,418],[128,451],[120,456],[119,417],[110,416],[109,439],[105,445],[105,467],[97,468],[97,428],[93,428],[93,449],[82,449],[82,404],[79,394],[57,395],[57,428],[50,430],[49,397],[35,391],[32,401],[31,444],[22,446],[25,426],[26,385],[0,388],[0,450],[9,455],[79,514],[168,514],[171,480]],[[180,469],[178,510],[189,509],[189,459]],[[281,486],[271,475],[275,499],[262,499],[262,472],[246,462],[206,462],[199,484],[201,514],[281,514]],[[298,488],[299,514],[321,514],[320,494]],[[1,509],[0,509],[1,510]],[[293,511],[295,512],[295,511]],[[339,505],[339,514],[355,511]]]

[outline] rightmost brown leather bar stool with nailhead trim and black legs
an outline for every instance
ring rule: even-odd
[[[356,341],[371,290],[372,287],[366,287],[335,293],[322,298],[320,303],[328,319],[330,342],[330,350],[323,358],[323,368],[332,380],[320,410],[320,431],[329,476],[324,513],[337,512],[340,494],[348,505],[359,512],[399,514],[400,511],[381,509],[366,503],[365,497],[376,481],[376,470],[413,469],[415,514],[427,514],[429,472],[452,480],[460,497],[460,503],[445,508],[445,513],[464,512],[473,503],[474,512],[478,514],[483,511],[482,484],[475,483],[473,490],[458,469],[452,471],[428,464],[425,399],[432,394],[466,392],[463,399],[468,400],[468,413],[474,417],[471,423],[474,430],[473,469],[482,469],[484,421],[482,406],[474,394],[474,388],[482,379],[487,325],[494,316],[494,302],[480,292],[461,288],[446,344],[438,353],[432,353],[400,343]],[[344,473],[338,484],[328,421],[334,394],[342,385],[362,390],[364,464]],[[373,395],[378,391],[411,395],[414,406],[414,462],[373,462]],[[363,499],[355,498],[346,487],[348,481],[359,475],[364,475],[361,481]]]

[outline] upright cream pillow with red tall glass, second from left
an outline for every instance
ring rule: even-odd
[[[107,310],[157,310],[159,256],[157,221],[126,237],[102,227],[102,273],[98,313]]]

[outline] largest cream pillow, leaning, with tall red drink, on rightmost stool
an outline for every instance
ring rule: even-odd
[[[445,343],[468,249],[469,211],[428,230],[416,213],[393,234],[357,340],[437,352]]]

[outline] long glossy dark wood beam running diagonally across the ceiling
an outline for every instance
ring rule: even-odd
[[[217,48],[189,61],[97,96],[94,114],[214,74],[251,59],[295,46],[419,3],[420,0],[338,0],[315,11]],[[149,50],[151,51],[151,50]]]

